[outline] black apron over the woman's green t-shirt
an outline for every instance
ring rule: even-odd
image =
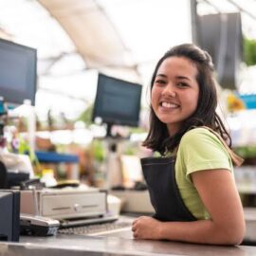
[[[141,160],[155,219],[160,221],[195,221],[180,196],[175,180],[174,157],[146,157]]]

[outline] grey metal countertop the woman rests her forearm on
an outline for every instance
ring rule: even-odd
[[[61,251],[60,251],[61,250]],[[0,255],[256,255],[256,247],[217,247],[167,241],[135,240],[130,229],[104,236],[58,234],[22,236],[20,243],[0,243]]]

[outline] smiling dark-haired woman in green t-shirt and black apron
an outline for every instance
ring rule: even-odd
[[[155,217],[134,222],[137,239],[214,245],[243,240],[232,166],[242,159],[229,149],[229,133],[215,112],[212,71],[210,55],[190,44],[174,46],[156,64],[143,144],[165,157],[141,159]]]

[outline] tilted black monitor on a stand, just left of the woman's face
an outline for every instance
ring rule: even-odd
[[[142,86],[99,74],[93,117],[108,124],[137,126]]]

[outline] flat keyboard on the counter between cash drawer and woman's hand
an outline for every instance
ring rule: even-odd
[[[61,234],[75,234],[75,235],[103,235],[110,234],[122,230],[131,230],[132,222],[131,221],[117,221],[112,223],[102,223],[94,225],[86,225],[73,228],[62,228],[58,232]]]

